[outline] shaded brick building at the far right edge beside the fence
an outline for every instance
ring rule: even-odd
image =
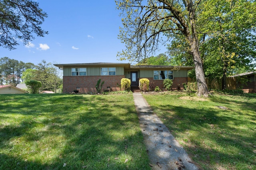
[[[230,76],[236,80],[236,88],[242,88],[245,93],[256,93],[256,71],[244,72],[242,74],[236,74]],[[241,83],[238,78],[246,80]]]

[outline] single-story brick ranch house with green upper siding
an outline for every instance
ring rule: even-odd
[[[129,78],[132,87],[138,87],[139,79],[148,78],[154,87],[163,88],[164,79],[173,80],[173,89],[188,82],[188,70],[192,66],[152,66],[129,63],[84,63],[84,64],[54,64],[63,70],[63,92],[70,93],[79,90],[80,93],[95,93],[95,85],[101,79],[104,81],[102,92],[107,89],[118,91],[122,78]],[[154,89],[153,89],[154,90]]]

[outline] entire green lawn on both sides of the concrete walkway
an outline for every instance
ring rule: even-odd
[[[256,95],[143,95],[202,169],[256,169]],[[148,164],[132,94],[0,95],[0,169]]]

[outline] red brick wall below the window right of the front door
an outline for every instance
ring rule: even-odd
[[[158,86],[160,89],[164,88],[164,80],[154,80],[154,78],[148,78],[150,83],[154,84],[154,88]],[[172,90],[177,90],[178,84],[180,84],[180,88],[183,89],[182,83],[188,82],[187,77],[174,77]],[[154,90],[154,89],[153,89]]]

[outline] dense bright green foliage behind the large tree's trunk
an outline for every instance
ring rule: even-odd
[[[208,0],[198,7],[199,47],[204,71],[209,80],[254,70],[256,59],[255,22],[256,3],[253,1]],[[190,65],[188,44],[182,35],[176,35],[168,45],[176,64]]]

